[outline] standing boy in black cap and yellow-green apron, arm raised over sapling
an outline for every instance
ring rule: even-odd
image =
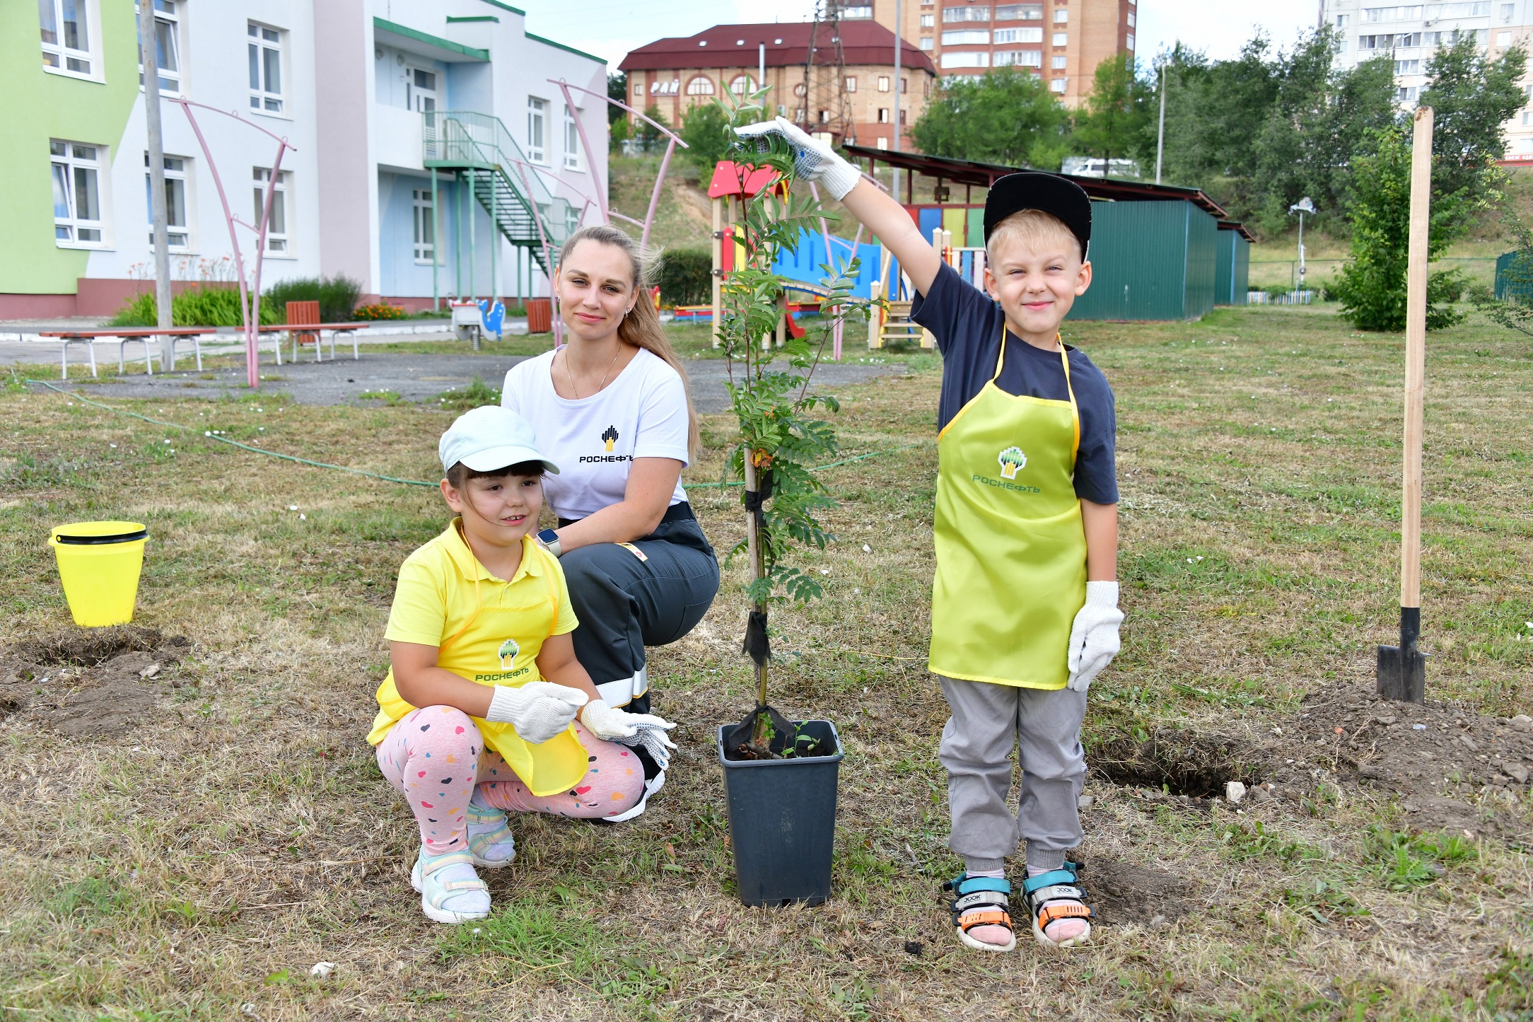
[[[1081,843],[1085,693],[1119,650],[1113,391],[1059,323],[1091,285],[1091,202],[1079,185],[1015,173],[984,207],[984,291],[958,277],[911,216],[829,146],[777,118],[800,179],[819,181],[900,259],[912,319],[943,352],[932,648],[952,717],[949,846],[958,939],[1016,947],[1006,857],[1026,843],[1023,902],[1047,947],[1090,939],[1091,910],[1065,852]],[[1007,806],[1012,746],[1023,781]]]

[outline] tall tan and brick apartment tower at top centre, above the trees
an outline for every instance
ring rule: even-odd
[[[885,3],[892,0],[875,0]],[[915,0],[918,46],[938,74],[1023,67],[1067,107],[1091,93],[1096,66],[1134,54],[1137,0]]]

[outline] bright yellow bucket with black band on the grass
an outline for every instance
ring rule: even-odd
[[[133,619],[147,538],[149,530],[136,521],[77,521],[54,527],[48,545],[58,559],[58,579],[77,625],[103,628]]]

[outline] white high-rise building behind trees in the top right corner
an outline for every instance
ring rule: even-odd
[[[1473,35],[1492,60],[1513,44],[1530,46],[1533,2],[1530,0],[1453,0],[1450,3],[1407,3],[1381,6],[1377,0],[1323,0],[1321,20],[1334,25],[1341,37],[1337,64],[1355,67],[1364,60],[1389,54],[1395,63],[1395,100],[1415,106],[1427,84],[1432,51],[1466,35]],[[1524,78],[1524,92],[1533,95],[1533,74]],[[1533,103],[1505,124],[1507,155],[1533,159]]]

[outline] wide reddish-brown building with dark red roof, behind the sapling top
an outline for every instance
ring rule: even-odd
[[[892,3],[891,3],[892,9]],[[937,81],[931,58],[909,40],[901,40],[900,77],[894,77],[895,35],[874,18],[840,23],[845,61],[848,123],[837,124],[834,109],[834,64],[816,64],[814,78],[805,80],[809,35],[808,21],[768,25],[716,25],[696,35],[661,38],[632,51],[618,64],[629,74],[629,106],[639,110],[658,106],[670,124],[685,121],[691,107],[730,90],[751,92],[759,83],[771,86],[766,103],[776,113],[809,130],[823,126],[837,142],[860,142],[888,149],[895,130],[895,89],[900,93],[898,123],[901,147],[909,149],[911,126]],[[816,38],[816,49],[834,46],[829,29]],[[765,72],[765,75],[763,75]]]

